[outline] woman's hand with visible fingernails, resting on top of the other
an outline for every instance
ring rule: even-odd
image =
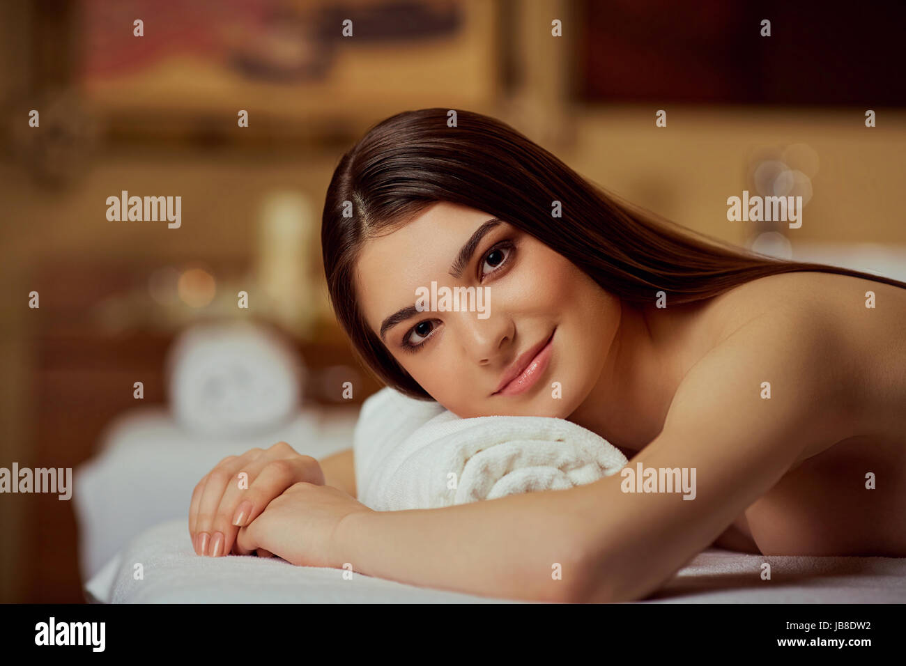
[[[249,525],[275,497],[300,481],[323,486],[321,465],[284,441],[218,462],[192,492],[188,534],[195,552],[214,557],[229,553],[239,528]]]

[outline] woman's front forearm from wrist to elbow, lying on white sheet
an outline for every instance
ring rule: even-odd
[[[581,487],[433,509],[352,514],[338,530],[362,574],[467,594],[569,601],[583,574]]]

